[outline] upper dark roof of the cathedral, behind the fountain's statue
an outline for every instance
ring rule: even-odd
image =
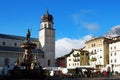
[[[8,35],[8,34],[0,34],[0,38],[5,38],[5,39],[14,39],[14,40],[25,40],[26,37],[23,36],[15,36],[15,35]],[[32,41],[39,41],[37,38],[31,38]]]

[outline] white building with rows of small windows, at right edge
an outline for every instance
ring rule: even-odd
[[[120,73],[120,36],[109,43],[109,65],[111,70]]]

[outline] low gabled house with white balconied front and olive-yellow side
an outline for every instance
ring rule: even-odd
[[[74,69],[80,66],[88,66],[88,51],[82,49],[72,49],[72,51],[65,55],[67,69]]]

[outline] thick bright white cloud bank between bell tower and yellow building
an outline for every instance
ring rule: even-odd
[[[91,39],[91,35],[87,35],[81,39],[62,38],[56,41],[56,57],[68,54],[72,49],[80,49],[85,46],[85,41]]]

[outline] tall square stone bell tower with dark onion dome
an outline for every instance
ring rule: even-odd
[[[55,29],[53,16],[48,11],[41,17],[39,41],[44,51],[44,66],[55,66]]]

